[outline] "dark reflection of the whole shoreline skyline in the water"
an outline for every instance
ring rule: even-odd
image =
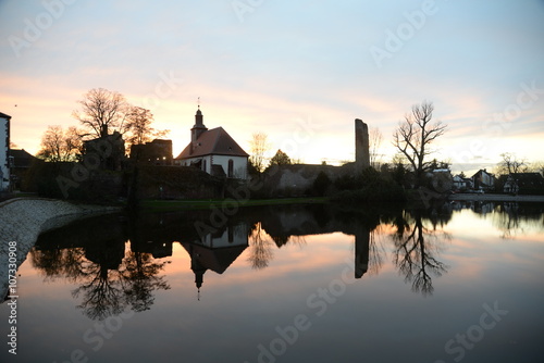
[[[426,211],[391,209],[373,212],[331,205],[289,205],[240,209],[224,225],[199,235],[197,221],[210,221],[210,211],[189,211],[143,216],[107,216],[76,222],[42,234],[30,252],[34,266],[46,280],[64,278],[78,285],[73,297],[85,315],[103,320],[125,309],[149,310],[154,292],[168,290],[161,275],[173,243],[190,256],[200,298],[205,274],[223,274],[247,251],[254,270],[272,268],[274,250],[308,246],[306,236],[343,233],[354,236],[355,278],[378,275],[387,253],[412,290],[433,293],[433,278],[447,272],[438,252],[450,236],[443,227],[455,210],[470,208],[492,217],[505,236],[529,223],[544,229],[542,206],[447,203]],[[392,245],[384,243],[392,241]]]

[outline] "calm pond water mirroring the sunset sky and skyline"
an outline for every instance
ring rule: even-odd
[[[10,362],[537,362],[544,205],[85,220],[18,270]],[[2,336],[9,309],[0,305]]]

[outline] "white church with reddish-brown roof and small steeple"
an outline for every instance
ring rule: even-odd
[[[199,107],[190,129],[190,142],[174,159],[174,165],[196,166],[213,176],[246,179],[248,157],[223,127],[208,129],[203,125]]]

